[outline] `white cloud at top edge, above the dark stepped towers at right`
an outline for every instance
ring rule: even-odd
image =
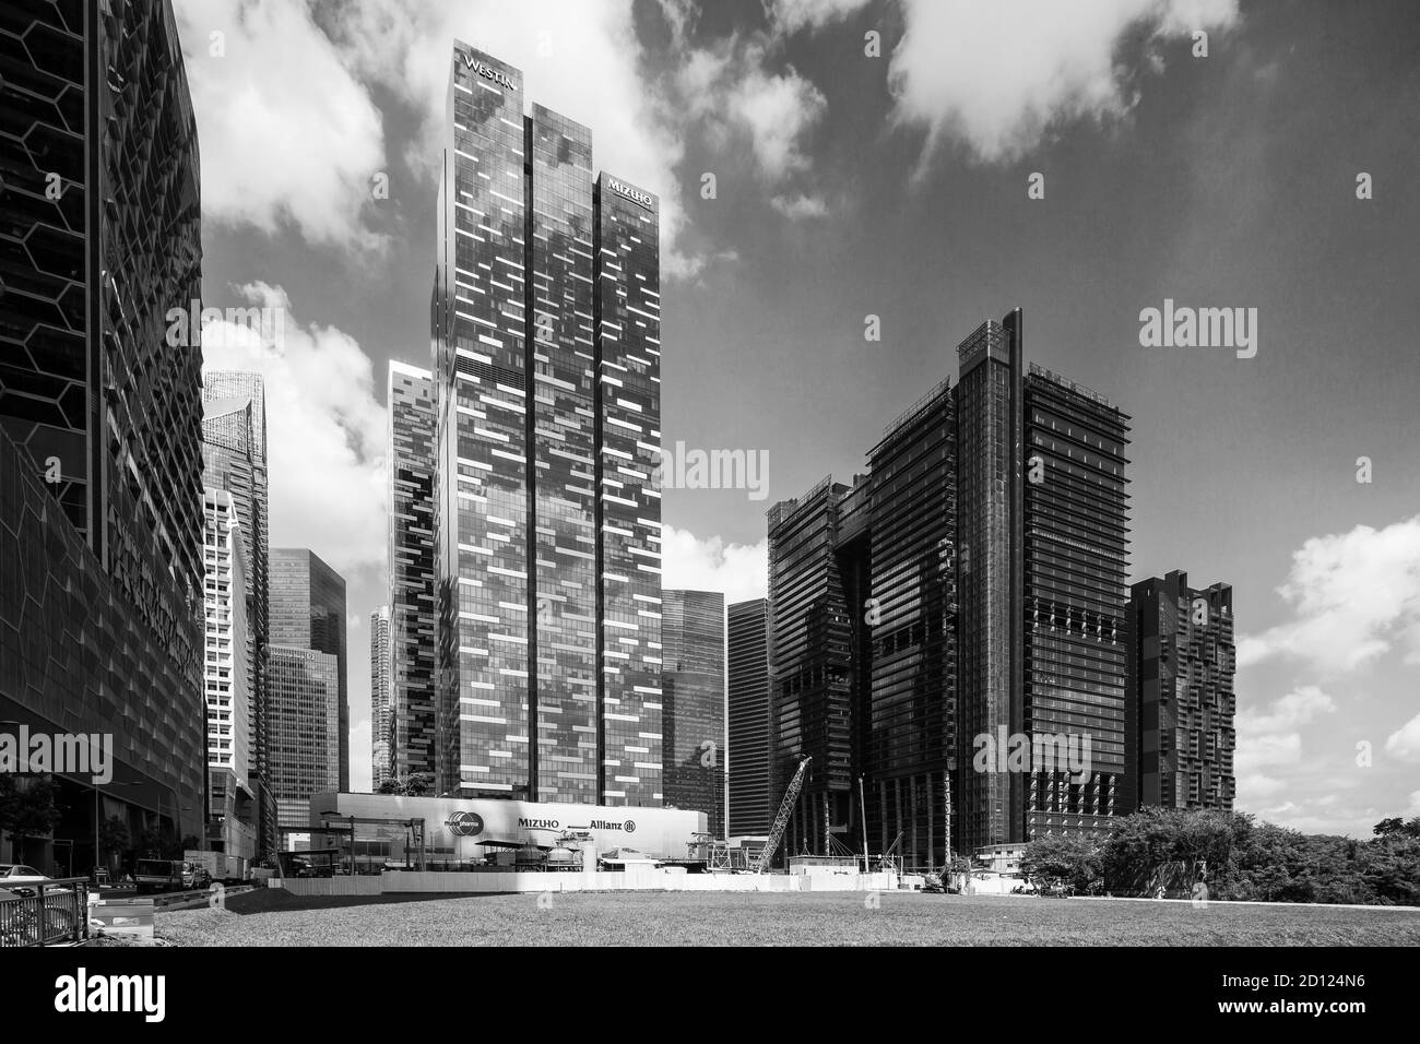
[[[1237,0],[902,0],[889,64],[893,119],[926,129],[919,172],[946,141],[984,162],[1035,149],[1056,125],[1133,107],[1116,47],[1227,28]]]

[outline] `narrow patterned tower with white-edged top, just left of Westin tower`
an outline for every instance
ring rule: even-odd
[[[435,706],[435,408],[429,371],[390,361],[389,641],[392,656],[386,771],[436,771]],[[378,784],[376,784],[378,785]]]

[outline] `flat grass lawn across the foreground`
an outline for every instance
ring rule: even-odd
[[[159,912],[176,946],[1377,946],[1420,945],[1420,912],[1027,896],[602,892],[307,899]],[[246,901],[246,902],[243,902]]]

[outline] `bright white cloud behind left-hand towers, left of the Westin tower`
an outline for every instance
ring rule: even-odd
[[[275,310],[280,325],[273,337],[240,321],[204,324],[203,369],[266,378],[271,545],[310,547],[346,581],[383,567],[386,415],[369,357],[334,327],[302,327],[281,287],[236,290]]]

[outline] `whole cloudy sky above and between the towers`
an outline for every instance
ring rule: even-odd
[[[213,324],[204,364],[267,374],[271,543],[348,581],[355,788],[386,361],[429,359],[457,37],[660,196],[663,443],[768,464],[666,490],[667,587],[763,595],[767,509],[865,470],[1021,307],[1028,358],[1132,416],[1132,580],[1233,584],[1238,807],[1355,837],[1420,815],[1410,0],[175,7],[204,304],[281,317]],[[1166,301],[1255,315],[1255,354],[1146,347]]]

